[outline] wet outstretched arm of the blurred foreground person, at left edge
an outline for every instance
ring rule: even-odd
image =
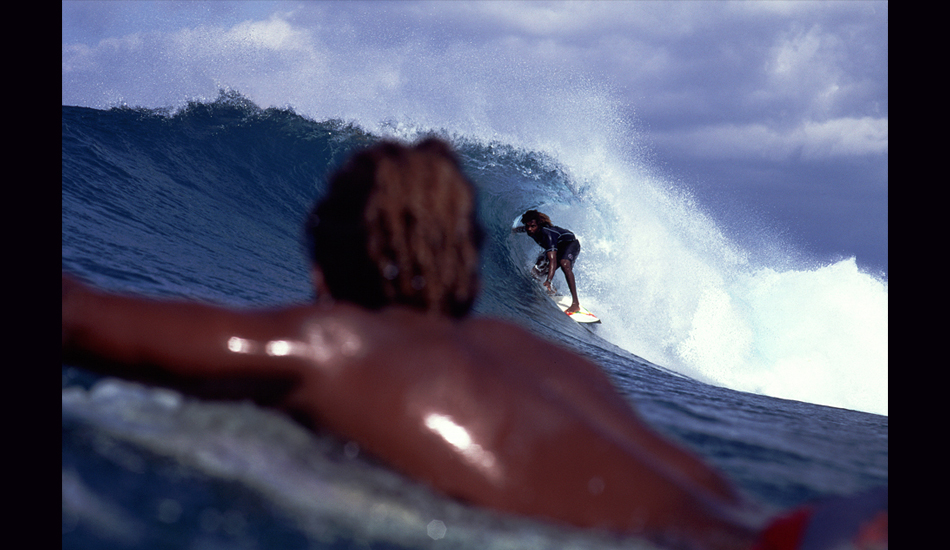
[[[292,316],[121,296],[64,275],[63,362],[202,396],[279,401],[304,365],[256,343],[276,340]]]

